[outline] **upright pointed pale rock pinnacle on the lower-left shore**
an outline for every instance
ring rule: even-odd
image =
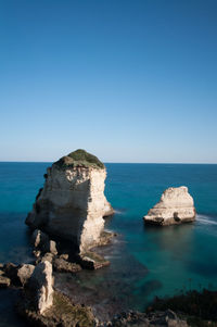
[[[35,267],[25,291],[26,298],[39,314],[43,314],[53,304],[53,276],[50,262],[41,262]]]

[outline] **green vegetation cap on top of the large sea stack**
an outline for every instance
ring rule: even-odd
[[[93,154],[85,150],[78,149],[69,154],[61,158],[54,163],[59,167],[95,167],[104,168],[104,164]]]

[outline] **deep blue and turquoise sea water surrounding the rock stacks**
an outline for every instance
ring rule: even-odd
[[[27,212],[49,163],[0,163],[0,262],[28,262]],[[217,165],[106,164],[105,194],[116,214],[106,228],[119,234],[102,253],[111,266],[77,276],[56,276],[74,301],[92,304],[102,318],[127,307],[143,310],[155,295],[180,289],[217,288]],[[151,228],[146,214],[168,187],[188,186],[194,224]],[[12,298],[14,299],[13,294]],[[3,299],[8,299],[8,302]],[[24,326],[0,291],[0,326]]]

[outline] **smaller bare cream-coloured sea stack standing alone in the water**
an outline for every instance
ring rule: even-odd
[[[174,225],[193,222],[195,215],[193,198],[189,194],[188,188],[171,187],[164,191],[159,202],[144,216],[144,222],[159,226]]]

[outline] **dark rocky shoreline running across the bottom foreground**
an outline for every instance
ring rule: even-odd
[[[42,262],[38,265],[40,274],[44,272],[41,266],[51,267],[49,262]],[[16,313],[23,317],[30,326],[47,327],[124,327],[124,326],[168,326],[168,327],[216,327],[216,291],[203,290],[188,291],[173,298],[155,299],[145,312],[128,311],[115,315],[108,320],[99,320],[90,306],[73,303],[72,300],[62,292],[52,290],[52,304],[41,310],[36,306],[42,298],[47,301],[48,290],[44,280],[52,286],[53,277],[50,273],[50,279],[41,279],[40,274],[31,272],[31,265],[14,265],[8,263],[0,265],[1,278],[8,278],[10,282],[1,282],[0,288],[12,288],[18,291],[18,301],[15,305]],[[47,273],[46,273],[47,274]],[[79,274],[79,273],[78,273]],[[37,277],[36,277],[37,276]],[[52,277],[52,278],[51,278]],[[35,280],[33,282],[33,280]],[[37,282],[36,282],[37,280]],[[43,282],[41,284],[41,280]],[[48,286],[48,284],[47,284]],[[38,292],[38,290],[42,290]],[[50,292],[51,293],[51,292]],[[36,297],[37,294],[37,297]],[[40,294],[40,297],[38,295]],[[42,294],[46,294],[43,297]],[[49,302],[49,301],[48,301]],[[43,303],[44,304],[44,303]]]

